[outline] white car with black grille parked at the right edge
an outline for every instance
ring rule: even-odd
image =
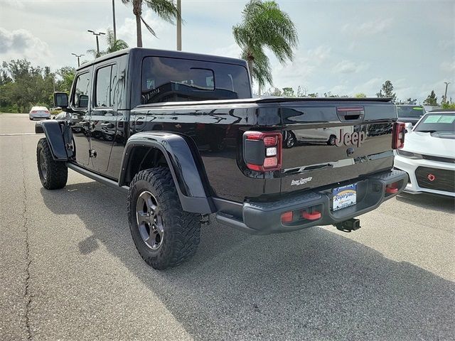
[[[394,166],[409,175],[405,191],[455,197],[455,111],[428,112],[412,130],[407,124]]]

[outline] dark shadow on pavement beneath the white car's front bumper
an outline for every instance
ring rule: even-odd
[[[431,195],[427,193],[410,194],[401,193],[396,196],[398,201],[405,202],[410,205],[436,210],[446,213],[455,212],[455,198],[444,195]]]

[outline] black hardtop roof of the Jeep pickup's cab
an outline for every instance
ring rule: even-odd
[[[154,48],[125,48],[124,50],[119,50],[107,55],[102,55],[100,58],[96,58],[88,63],[80,65],[77,67],[77,70],[83,70],[85,67],[100,63],[104,60],[109,60],[112,58],[117,58],[121,55],[137,55],[139,58],[146,56],[154,57],[168,57],[168,58],[181,58],[181,59],[193,59],[193,60],[203,60],[207,62],[218,62],[218,63],[228,63],[228,64],[237,64],[246,66],[247,62],[242,59],[237,58],[228,58],[221,57],[219,55],[203,55],[200,53],[189,53],[181,52],[174,50],[156,50]]]

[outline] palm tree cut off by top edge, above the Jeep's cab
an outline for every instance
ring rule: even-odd
[[[168,23],[174,23],[174,19],[180,16],[178,9],[173,0],[122,0],[124,4],[132,4],[133,14],[136,16],[136,33],[137,33],[137,47],[142,47],[142,31],[141,21],[151,34],[156,37],[156,33],[142,18],[142,4],[145,4],[149,9],[154,11],[161,19]]]

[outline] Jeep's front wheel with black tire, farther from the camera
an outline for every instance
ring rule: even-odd
[[[46,138],[38,141],[36,163],[41,184],[46,190],[58,190],[65,187],[68,180],[68,168],[64,162],[53,159]]]

